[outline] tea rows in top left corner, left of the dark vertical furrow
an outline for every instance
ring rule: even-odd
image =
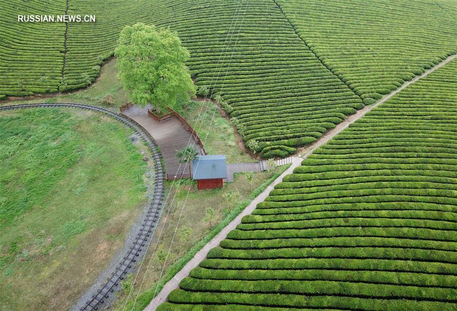
[[[0,99],[2,95],[56,92],[63,65],[65,25],[18,23],[18,14],[62,15],[65,1],[0,1]]]

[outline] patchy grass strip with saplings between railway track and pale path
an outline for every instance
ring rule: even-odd
[[[139,290],[140,295],[135,304],[135,310],[142,310],[154,294],[181,211],[183,211],[183,214],[178,224],[170,255],[165,263],[161,281],[164,280],[167,274],[173,273],[172,270],[175,270],[175,267],[172,267],[172,265],[178,263],[183,257],[186,257],[186,253],[193,246],[197,245],[212,228],[227,218],[232,211],[247,206],[252,200],[252,197],[249,196],[254,195],[255,197],[258,195],[258,193],[252,193],[257,187],[285,169],[286,166],[280,166],[276,168],[275,171],[257,172],[252,179],[251,185],[249,185],[249,181],[245,174],[236,174],[235,182],[226,183],[223,188],[215,190],[198,191],[197,185],[195,183],[190,183],[187,180],[183,180],[181,185],[176,182],[174,185],[172,185],[172,182],[167,182],[166,194],[168,194],[168,190],[171,189],[169,203],[164,209],[160,222],[157,225],[157,232],[143,259],[144,263],[138,275],[137,282],[133,285],[133,296],[129,297],[126,309],[130,310],[134,307],[133,301]],[[186,200],[187,192],[189,192],[189,195]],[[174,202],[173,204],[170,204],[173,197],[175,197]],[[208,207],[212,208],[215,212],[214,217],[211,220],[205,219],[205,216],[207,215],[206,209]],[[170,213],[167,217],[168,211],[170,211]],[[239,211],[237,212],[237,215],[238,213]],[[162,227],[164,229],[159,237],[159,232]],[[155,247],[156,252],[153,253]],[[150,265],[148,267],[149,261]],[[133,275],[133,277],[135,277],[135,275]],[[140,288],[143,278],[144,283]],[[123,282],[125,290],[117,293],[118,297],[114,301],[112,309],[123,309],[128,290],[132,287],[132,283],[132,279],[130,278]],[[159,290],[160,288],[158,288],[158,291]]]

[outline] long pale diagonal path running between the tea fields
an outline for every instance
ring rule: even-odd
[[[165,286],[164,288],[162,288],[162,290],[157,294],[157,296],[155,296],[152,301],[148,304],[148,306],[145,308],[145,310],[147,311],[152,311],[152,310],[155,310],[157,308],[157,306],[159,304],[161,304],[162,302],[165,302],[167,300],[167,297],[168,295],[170,294],[171,291],[177,289],[179,287],[179,283],[187,277],[187,275],[189,275],[190,271],[197,267],[200,262],[202,262],[208,252],[214,248],[214,247],[217,247],[220,242],[225,239],[225,237],[227,236],[228,232],[232,231],[233,229],[235,229],[239,224],[241,224],[241,219],[243,218],[243,216],[245,215],[250,215],[254,210],[255,210],[255,207],[257,206],[257,203],[259,202],[262,202],[263,200],[265,200],[265,198],[267,198],[267,196],[270,194],[270,191],[273,190],[274,186],[278,183],[280,183],[282,181],[282,179],[284,178],[284,176],[288,175],[288,174],[291,174],[293,172],[293,169],[297,166],[300,166],[301,164],[301,161],[303,159],[306,159],[308,156],[310,156],[314,150],[316,150],[317,148],[319,148],[320,146],[323,146],[325,144],[327,144],[328,141],[330,141],[331,139],[333,139],[333,137],[335,137],[337,134],[339,134],[342,130],[344,130],[345,128],[347,128],[351,123],[355,122],[356,120],[362,118],[363,116],[365,116],[368,112],[370,112],[372,109],[378,107],[379,105],[381,105],[382,103],[384,103],[386,100],[388,100],[390,97],[394,96],[395,94],[397,94],[398,92],[402,91],[403,89],[405,89],[408,85],[410,85],[411,83],[414,83],[416,82],[417,80],[423,78],[423,77],[426,77],[427,75],[429,75],[430,73],[434,72],[435,70],[437,70],[438,68],[444,66],[445,64],[447,64],[448,62],[450,62],[451,60],[453,60],[455,57],[457,57],[457,55],[451,55],[449,57],[447,57],[446,59],[444,59],[443,61],[441,61],[440,63],[438,63],[436,66],[430,68],[428,71],[426,71],[425,73],[423,73],[422,75],[420,76],[417,76],[415,77],[414,79],[412,79],[411,81],[408,81],[406,82],[405,84],[403,84],[402,86],[400,86],[398,89],[396,89],[395,91],[391,92],[390,94],[384,96],[383,98],[381,98],[378,102],[376,102],[374,105],[372,106],[366,106],[365,108],[357,111],[355,114],[353,115],[350,115],[348,116],[346,119],[344,119],[341,123],[339,123],[335,128],[333,128],[332,130],[329,130],[327,132],[325,132],[321,137],[320,139],[318,139],[317,141],[315,141],[313,144],[305,147],[305,148],[302,148],[299,150],[299,153],[304,153],[302,155],[302,158],[298,158],[298,157],[293,157],[292,158],[292,165],[281,175],[279,176],[264,192],[260,193],[247,207],[246,209],[244,209],[240,215],[238,215],[237,218],[235,218],[233,221],[231,221],[226,227],[224,227],[214,238],[212,238],[208,244],[206,244],[197,254],[195,254],[195,256],[193,256],[193,258],[178,272],[175,274],[175,276],[173,277],[173,279],[171,279]]]

